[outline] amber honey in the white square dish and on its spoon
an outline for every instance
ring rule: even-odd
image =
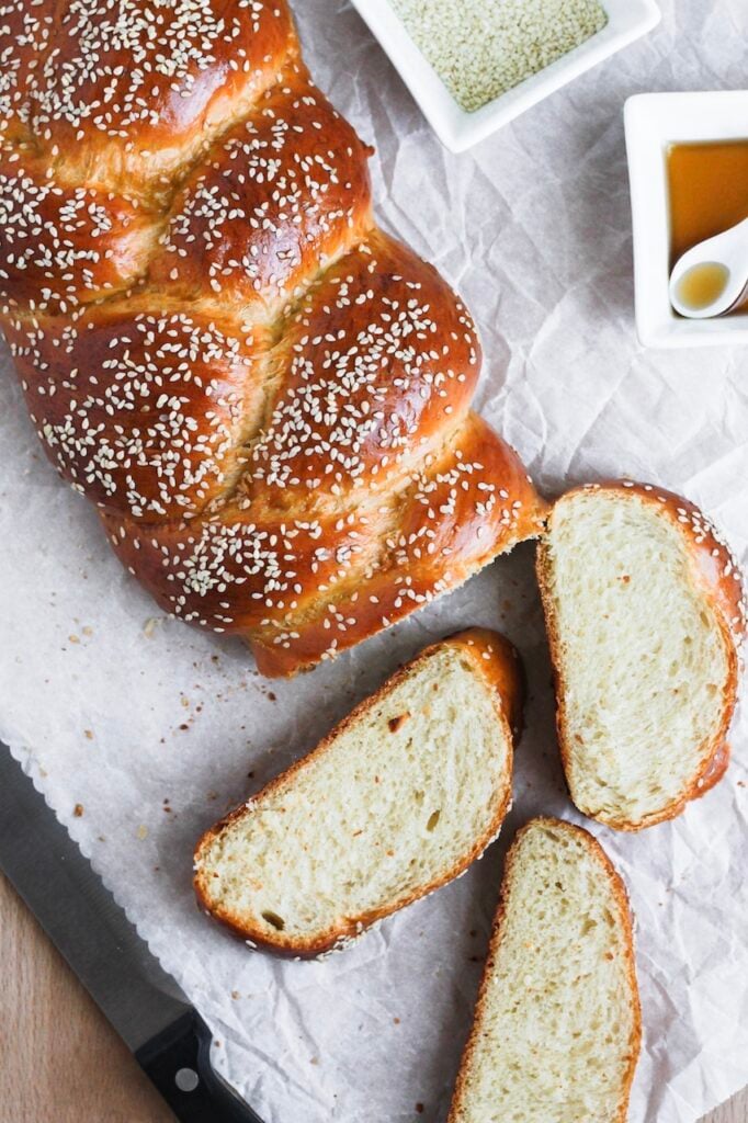
[[[667,177],[673,268],[687,249],[748,218],[748,139],[671,145]],[[724,265],[705,262],[681,279],[678,299],[695,310],[708,308],[728,280]],[[730,314],[747,309],[744,301]]]

